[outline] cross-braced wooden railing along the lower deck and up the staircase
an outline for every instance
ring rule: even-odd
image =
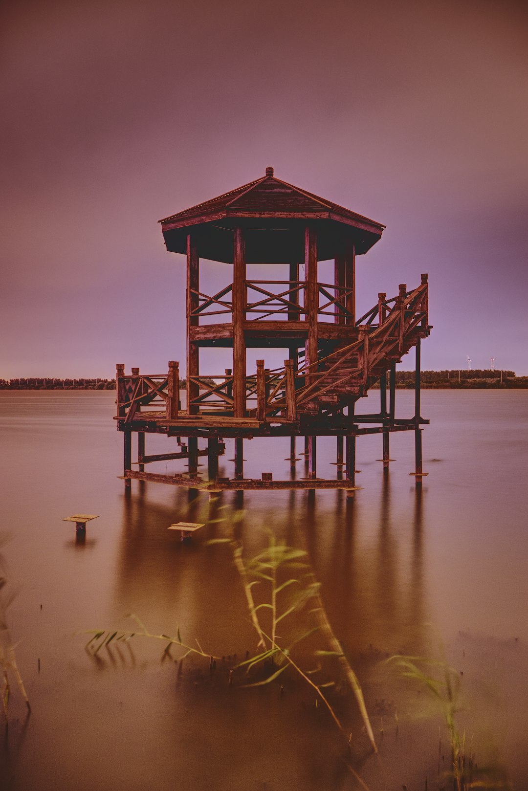
[[[273,370],[264,368],[264,360],[257,360],[256,374],[245,380],[246,411],[262,422],[279,414],[294,422],[298,411],[310,411],[322,396],[329,398],[336,392],[363,395],[418,337],[428,334],[427,322],[427,275],[422,275],[420,286],[412,291],[401,285],[397,297],[388,300],[380,293],[378,304],[356,324],[357,339],[324,358],[306,362],[297,370],[293,360],[285,360],[283,368]],[[233,414],[234,376],[230,369],[220,375],[189,377],[189,382],[196,392],[188,402],[189,414]],[[149,376],[140,376],[139,369],[125,376],[124,366],[117,365],[116,389],[117,414],[125,423],[135,418],[140,407],[145,414],[144,407],[159,405],[165,406],[166,418],[178,418],[177,362],[169,362],[167,375]]]

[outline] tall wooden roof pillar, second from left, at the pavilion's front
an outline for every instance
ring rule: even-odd
[[[245,244],[240,226],[234,229],[233,252],[233,399],[234,417],[245,417],[245,339],[246,305]]]

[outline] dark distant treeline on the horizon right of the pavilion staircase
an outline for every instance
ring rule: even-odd
[[[397,388],[413,388],[415,381],[414,371],[397,371]],[[514,371],[492,371],[468,369],[460,371],[422,371],[420,384],[424,390],[452,389],[469,390],[486,388],[528,388],[528,377],[516,377]]]

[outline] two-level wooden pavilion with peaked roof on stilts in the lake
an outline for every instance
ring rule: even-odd
[[[277,179],[266,168],[260,179],[161,220],[170,252],[187,256],[187,391],[180,403],[180,369],[141,374],[116,366],[117,427],[124,437],[125,485],[131,479],[158,481],[210,491],[247,489],[355,490],[355,440],[382,434],[382,461],[389,467],[389,434],[414,431],[416,482],[421,483],[420,340],[431,330],[427,318],[427,274],[412,290],[378,294],[373,308],[355,312],[355,259],[367,253],[384,226]],[[231,264],[232,282],[206,293],[199,261]],[[332,282],[321,282],[318,261],[331,259]],[[249,280],[248,264],[270,265],[271,278]],[[273,279],[272,264],[287,265],[287,280]],[[302,270],[301,270],[302,267]],[[275,269],[276,271],[276,269]],[[416,347],[415,414],[395,416],[396,365]],[[233,350],[232,368],[200,373],[199,350]],[[283,349],[279,369],[256,361],[246,370],[247,349]],[[355,403],[379,382],[380,411],[355,414]],[[387,389],[389,401],[387,403]],[[131,437],[138,436],[138,469],[132,469]],[[146,433],[176,437],[178,450],[146,455]],[[336,437],[336,479],[317,477],[317,437]],[[296,438],[305,438],[305,479],[246,479],[244,440],[290,437],[290,465]],[[218,477],[223,439],[234,438],[234,475]],[[184,441],[185,439],[185,441]],[[203,447],[200,447],[203,445]],[[207,456],[208,475],[198,472]],[[176,475],[145,471],[152,462],[181,459],[188,470]]]

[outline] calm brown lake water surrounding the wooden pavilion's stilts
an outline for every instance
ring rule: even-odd
[[[463,673],[458,720],[477,763],[505,772],[517,789],[528,786],[528,392],[424,392],[430,475],[421,494],[408,477],[413,437],[401,433],[391,437],[397,461],[386,477],[375,461],[380,437],[359,439],[364,488],[354,502],[330,491],[311,500],[300,491],[255,492],[243,505],[234,494],[189,501],[184,490],[154,483],[133,482],[126,496],[116,477],[122,437],[113,401],[112,392],[0,392],[0,529],[12,536],[2,553],[17,588],[9,627],[32,704],[26,717],[12,683],[2,789],[359,787],[347,763],[370,789],[424,789],[426,774],[427,787],[439,788],[446,782],[438,764],[442,773],[450,760],[442,713],[423,684],[404,683],[382,660],[399,651],[436,657],[440,644]],[[411,414],[412,392],[397,392],[397,404]],[[169,442],[146,439],[147,452]],[[230,475],[230,441],[226,450]],[[335,475],[334,453],[333,441],[321,442],[319,475]],[[287,454],[287,440],[246,443],[246,475],[269,469],[287,477]],[[61,520],[79,512],[100,514],[84,545]],[[232,655],[253,653],[256,634],[230,547],[206,541],[232,535],[235,512],[245,557],[268,543],[261,528],[307,551],[363,685],[380,759],[368,756],[344,687],[327,694],[352,733],[350,754],[294,672],[254,689],[241,688],[237,672],[228,687]],[[167,530],[178,520],[206,527],[185,544]],[[152,632],[175,635],[179,626],[184,642],[197,638],[225,661],[210,674],[207,660],[188,657],[179,672],[172,659],[161,662],[163,644],[145,638],[93,657],[74,634],[127,628],[131,612]],[[315,635],[299,647],[302,668],[315,666],[314,648],[328,645]],[[332,661],[321,660],[316,683],[340,680]]]

